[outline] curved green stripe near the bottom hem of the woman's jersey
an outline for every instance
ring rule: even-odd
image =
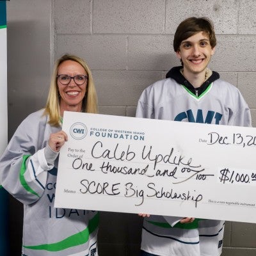
[[[35,246],[24,245],[23,247],[32,249],[32,250],[46,250],[49,252],[60,252],[67,248],[87,243],[89,240],[90,234],[92,234],[92,232],[95,231],[98,226],[99,226],[99,212],[97,212],[97,214],[92,218],[92,220],[89,220],[87,228],[85,228],[83,231],[77,234],[74,234],[70,237],[67,237],[66,239],[63,239],[58,243],[39,244]]]

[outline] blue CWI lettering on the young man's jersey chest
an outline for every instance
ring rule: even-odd
[[[222,114],[215,111],[207,111],[207,115],[203,115],[202,109],[198,109],[196,115],[193,114],[191,109],[186,112],[179,113],[175,116],[174,121],[188,120],[191,123],[202,123],[202,124],[220,124]]]

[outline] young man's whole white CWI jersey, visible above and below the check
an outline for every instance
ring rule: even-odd
[[[250,109],[239,90],[220,79],[207,82],[204,92],[196,96],[173,78],[157,81],[141,94],[136,116],[251,126]],[[193,223],[181,224],[179,220],[183,217],[186,216],[145,218],[141,250],[159,256],[219,256],[225,222],[195,219]]]

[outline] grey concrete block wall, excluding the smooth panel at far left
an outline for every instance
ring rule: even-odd
[[[255,126],[255,11],[253,0],[55,0],[55,55],[85,58],[100,113],[134,116],[143,89],[179,65],[172,47],[177,25],[207,16],[218,40],[210,67],[241,90]],[[102,213],[101,255],[138,255],[140,227],[132,214]],[[256,255],[256,225],[227,221],[223,256],[230,255]]]

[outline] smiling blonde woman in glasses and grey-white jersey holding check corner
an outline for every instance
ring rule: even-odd
[[[24,204],[24,256],[98,255],[98,212],[54,208],[58,154],[68,140],[63,111],[97,113],[90,69],[67,54],[56,61],[45,108],[19,125],[0,159],[1,184]]]

